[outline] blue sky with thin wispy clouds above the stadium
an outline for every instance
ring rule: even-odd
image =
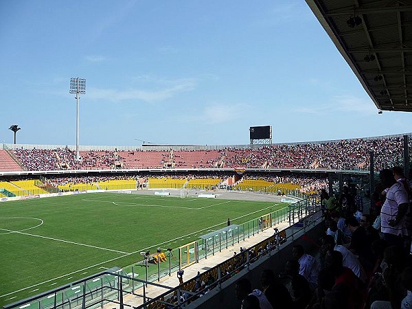
[[[378,115],[304,0],[0,1],[0,142],[249,144],[411,132]],[[140,141],[139,141],[140,140]]]

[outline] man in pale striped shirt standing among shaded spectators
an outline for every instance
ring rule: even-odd
[[[403,238],[408,236],[405,215],[409,209],[408,194],[402,183],[395,180],[391,170],[379,173],[382,183],[387,187],[385,203],[380,209],[380,231],[389,246],[403,248]]]

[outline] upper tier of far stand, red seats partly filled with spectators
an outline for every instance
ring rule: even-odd
[[[30,171],[239,167],[368,170],[370,152],[374,152],[375,170],[381,170],[402,162],[402,148],[402,136],[387,136],[214,150],[87,150],[80,152],[81,161],[76,161],[69,148],[16,148],[10,152]],[[2,161],[1,170],[9,169],[5,164],[9,163]],[[10,170],[13,168],[16,165]]]

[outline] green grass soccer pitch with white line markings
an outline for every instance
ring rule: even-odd
[[[135,264],[141,251],[199,240],[227,218],[239,225],[286,205],[116,193],[1,203],[0,306]]]

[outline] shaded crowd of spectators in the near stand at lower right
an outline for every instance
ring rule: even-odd
[[[260,284],[236,282],[242,309],[412,308],[411,183],[402,168],[380,171],[369,211],[354,187],[341,196],[322,190],[327,230],[319,252],[297,244],[284,271],[262,271]]]

